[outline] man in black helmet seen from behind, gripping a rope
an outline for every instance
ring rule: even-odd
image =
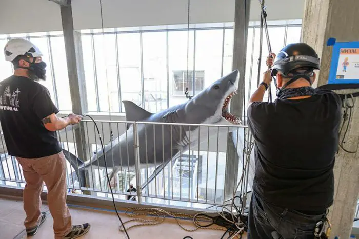
[[[320,59],[305,43],[272,53],[267,65],[272,70],[264,73],[248,107],[256,143],[248,238],[312,239],[333,203],[340,98],[311,87]],[[262,102],[271,76],[277,99]]]

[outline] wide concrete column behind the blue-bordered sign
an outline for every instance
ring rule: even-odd
[[[332,47],[326,45],[328,38],[337,42],[358,41],[359,1],[306,0],[302,27],[302,42],[312,46],[321,57],[321,70],[317,85],[327,84],[331,64]],[[355,90],[354,90],[355,91]],[[358,90],[356,90],[358,91]],[[338,93],[351,93],[341,90]],[[343,135],[341,135],[342,139]],[[331,238],[349,238],[359,192],[359,99],[355,99],[353,118],[346,137],[346,148],[340,149],[334,166],[334,204],[330,208],[333,224]]]

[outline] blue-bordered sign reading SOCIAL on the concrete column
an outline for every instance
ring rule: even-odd
[[[359,83],[359,42],[328,40],[333,46],[328,84]]]

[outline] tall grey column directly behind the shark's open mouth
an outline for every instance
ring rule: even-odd
[[[244,101],[244,81],[246,69],[246,52],[247,52],[247,36],[249,24],[250,0],[236,0],[234,13],[234,41],[233,41],[233,70],[240,71],[240,83],[238,85],[238,94],[232,97],[230,112],[234,115],[242,117],[243,101]],[[247,110],[247,109],[245,109]],[[232,133],[228,135],[227,161],[224,189],[224,198],[228,200],[233,196],[234,187],[238,179],[238,167],[240,157],[238,156],[236,140]],[[242,156],[242,155],[241,155]]]

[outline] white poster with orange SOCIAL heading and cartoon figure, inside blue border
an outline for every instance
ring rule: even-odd
[[[336,70],[337,79],[357,79],[359,76],[359,48],[341,48]]]

